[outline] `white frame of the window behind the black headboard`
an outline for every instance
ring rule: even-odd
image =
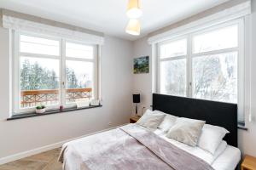
[[[224,48],[224,49],[220,49],[220,50],[212,50],[210,52],[203,52],[203,53],[199,53],[199,54],[193,54],[192,50],[192,40],[193,37],[198,35],[198,34],[202,34],[204,32],[208,32],[208,31],[214,31],[214,30],[218,30],[227,26],[234,26],[237,25],[238,26],[238,46],[237,48]],[[160,45],[162,44],[166,44],[168,42],[172,42],[172,41],[177,41],[179,39],[183,39],[184,37],[187,37],[187,55],[185,56],[177,56],[177,57],[170,57],[170,58],[165,58],[165,59],[160,59]],[[194,57],[198,57],[198,56],[203,56],[203,55],[209,55],[209,54],[224,54],[224,53],[228,53],[228,52],[232,52],[232,51],[237,51],[237,67],[238,67],[238,72],[237,72],[237,105],[238,105],[238,115],[243,114],[245,111],[245,42],[244,42],[244,38],[245,38],[245,20],[244,18],[239,18],[236,20],[230,20],[228,22],[224,22],[222,24],[218,24],[215,26],[211,26],[211,27],[205,27],[205,26],[201,26],[201,29],[198,28],[196,29],[196,31],[188,31],[186,30],[184,33],[179,34],[178,37],[174,37],[174,38],[170,38],[168,40],[165,40],[163,42],[157,42],[155,44],[155,54],[156,54],[156,63],[155,63],[155,67],[157,73],[155,74],[155,80],[156,80],[156,86],[155,86],[155,92],[156,93],[160,93],[160,61],[163,60],[172,60],[172,59],[187,59],[187,80],[186,80],[186,96],[185,97],[189,97],[192,98],[193,94],[193,83],[192,83],[192,59]],[[153,90],[154,90],[153,89]]]

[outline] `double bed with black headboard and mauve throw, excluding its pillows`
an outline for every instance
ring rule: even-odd
[[[171,169],[232,170],[241,159],[237,149],[237,105],[153,94],[153,110],[179,117],[204,120],[224,127],[226,144],[213,155],[199,147],[166,138],[158,128],[136,124],[97,133],[63,144],[60,161],[64,170]]]

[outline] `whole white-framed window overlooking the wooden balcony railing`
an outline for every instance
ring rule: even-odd
[[[14,111],[88,105],[97,98],[93,44],[15,31]]]

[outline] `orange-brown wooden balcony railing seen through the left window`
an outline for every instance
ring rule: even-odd
[[[68,88],[66,89],[66,102],[83,101],[91,98],[91,88]],[[26,90],[20,93],[21,108],[36,105],[55,105],[59,103],[59,90]]]

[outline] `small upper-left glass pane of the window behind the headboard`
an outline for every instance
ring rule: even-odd
[[[187,54],[187,39],[160,45],[160,58],[176,57]]]

